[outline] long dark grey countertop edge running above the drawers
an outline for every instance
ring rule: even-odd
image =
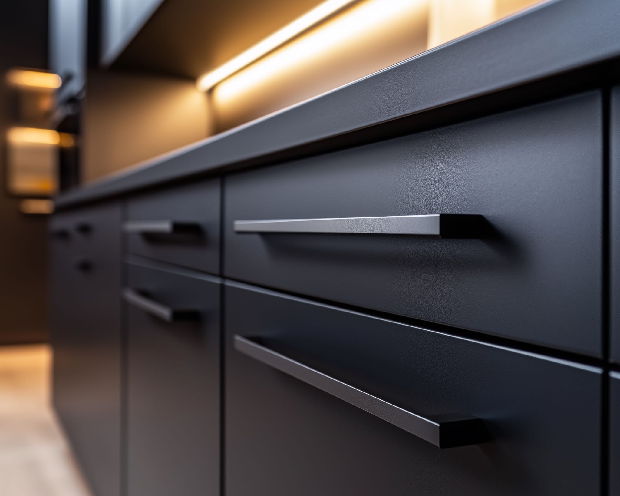
[[[327,94],[71,190],[55,204],[69,208],[368,143],[606,84],[620,74],[618,19],[618,0],[552,0]]]

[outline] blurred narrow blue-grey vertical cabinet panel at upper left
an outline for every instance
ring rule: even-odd
[[[50,0],[50,69],[63,80],[59,102],[84,87],[86,23],[87,0]]]

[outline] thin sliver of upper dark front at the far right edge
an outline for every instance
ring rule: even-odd
[[[611,360],[620,363],[620,86],[611,92]]]

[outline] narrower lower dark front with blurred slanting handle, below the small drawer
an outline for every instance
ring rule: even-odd
[[[128,496],[219,496],[219,280],[157,267],[126,265]]]

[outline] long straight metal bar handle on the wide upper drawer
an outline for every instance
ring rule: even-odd
[[[485,218],[482,215],[444,213],[391,217],[234,221],[235,232],[408,234],[449,238],[479,237],[483,234],[484,228]]]

